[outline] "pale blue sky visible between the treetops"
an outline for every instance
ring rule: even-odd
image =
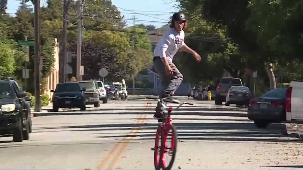
[[[133,18],[132,15],[135,15],[136,20],[144,20],[135,21],[135,24],[152,24],[159,28],[165,23],[150,21],[168,22],[169,15],[172,15],[170,12],[178,11],[173,7],[177,3],[172,1],[174,0],[112,0],[112,4],[119,7],[118,10],[125,16],[127,19],[125,21],[127,21],[129,26],[133,25],[133,21],[130,19]],[[18,9],[19,2],[18,0],[8,0],[7,12],[13,15]],[[29,4],[32,5],[31,3]],[[42,0],[41,6],[43,4]]]

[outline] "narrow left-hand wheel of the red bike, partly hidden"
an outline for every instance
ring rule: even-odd
[[[161,143],[159,145],[159,139],[162,139],[162,129],[160,126],[157,128],[156,137],[155,137],[155,146],[154,146],[154,166],[155,170],[161,169],[161,151],[159,150],[161,148]],[[158,153],[160,151],[160,154]]]

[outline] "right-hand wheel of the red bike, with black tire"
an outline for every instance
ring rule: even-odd
[[[162,169],[170,170],[175,162],[177,151],[178,134],[174,125],[168,125],[161,138],[160,158],[162,160]],[[171,158],[170,158],[171,157]]]

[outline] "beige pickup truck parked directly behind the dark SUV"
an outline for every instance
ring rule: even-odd
[[[87,80],[79,81],[81,88],[85,88],[85,103],[93,104],[95,107],[100,107],[100,93],[98,90],[97,81]]]

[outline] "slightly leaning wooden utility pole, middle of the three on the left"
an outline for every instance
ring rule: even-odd
[[[67,24],[68,24],[68,16],[66,15],[68,12],[69,0],[63,1],[63,28],[62,28],[62,44],[61,44],[61,55],[59,58],[59,74],[60,74],[60,82],[65,82],[65,72],[66,72],[66,42],[67,42]]]

